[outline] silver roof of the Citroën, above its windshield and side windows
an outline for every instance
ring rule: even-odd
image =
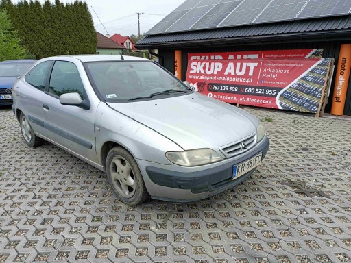
[[[130,55],[123,55],[123,59],[121,59],[121,55],[59,55],[56,57],[50,57],[45,59],[51,60],[62,60],[62,58],[75,58],[82,62],[98,62],[98,61],[132,61],[132,60],[140,60],[140,61],[149,61],[146,58],[132,57]]]

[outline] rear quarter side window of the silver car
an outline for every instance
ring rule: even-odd
[[[34,68],[25,75],[25,81],[39,90],[45,90],[47,73],[51,63],[52,61],[45,61],[34,66]]]

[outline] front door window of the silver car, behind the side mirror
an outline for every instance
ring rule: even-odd
[[[49,92],[58,97],[65,93],[77,92],[84,99],[84,85],[74,63],[55,62],[50,77]]]

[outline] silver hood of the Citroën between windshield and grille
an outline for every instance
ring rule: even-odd
[[[258,125],[251,114],[196,92],[152,101],[107,104],[184,150],[218,149],[256,133]]]

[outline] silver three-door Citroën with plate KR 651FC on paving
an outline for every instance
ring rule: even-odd
[[[158,64],[118,55],[39,60],[13,88],[27,145],[47,140],[106,171],[131,205],[203,199],[265,157],[258,119],[193,92]]]

